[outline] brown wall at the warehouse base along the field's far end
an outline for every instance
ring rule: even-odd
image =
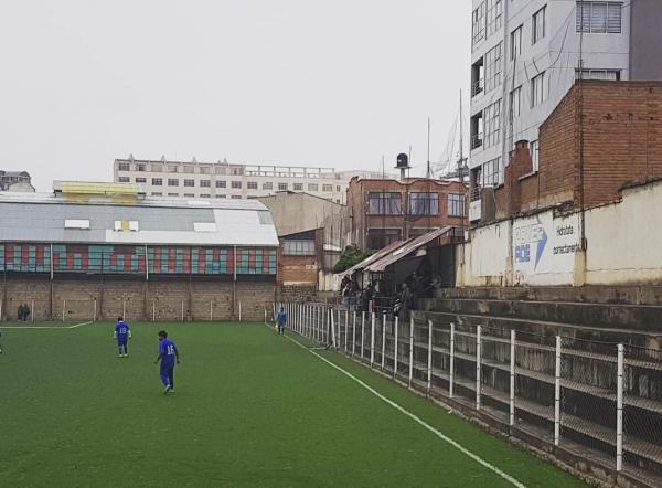
[[[261,321],[275,300],[269,282],[118,277],[7,276],[1,284],[2,320],[15,320],[21,304],[34,304],[34,320]],[[96,317],[95,317],[96,311]]]

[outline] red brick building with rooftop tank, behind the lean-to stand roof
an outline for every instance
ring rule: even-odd
[[[351,241],[375,251],[433,229],[467,225],[468,187],[425,178],[353,178],[348,188]]]

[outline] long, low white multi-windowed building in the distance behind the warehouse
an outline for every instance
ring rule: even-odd
[[[148,195],[217,199],[253,199],[277,192],[305,192],[344,204],[352,177],[381,178],[369,171],[333,168],[236,165],[218,162],[116,159],[114,181],[139,183]]]

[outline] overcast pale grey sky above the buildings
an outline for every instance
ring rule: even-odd
[[[0,6],[0,169],[38,190],[129,153],[420,172],[469,85],[467,0]]]

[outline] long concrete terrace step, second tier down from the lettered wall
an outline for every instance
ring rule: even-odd
[[[485,315],[598,329],[655,331],[662,335],[662,306],[534,301],[519,299],[423,298],[419,308],[458,315]]]

